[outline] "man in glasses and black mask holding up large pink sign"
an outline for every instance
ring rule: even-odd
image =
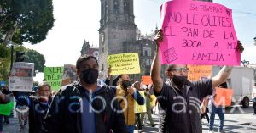
[[[154,84],[154,94],[158,97],[161,108],[166,112],[166,132],[172,133],[201,133],[200,103],[203,97],[212,94],[212,88],[223,83],[230,75],[232,67],[224,66],[218,75],[209,80],[189,82],[187,65],[169,65],[166,76],[169,83],[164,83],[160,77],[159,42],[163,40],[162,30],[155,36],[156,54],[151,66],[151,79]],[[243,47],[238,42],[238,49]]]

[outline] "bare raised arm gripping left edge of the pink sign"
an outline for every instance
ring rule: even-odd
[[[162,30],[159,30],[154,38],[154,41],[156,43],[156,50],[155,55],[153,59],[153,63],[151,65],[151,79],[153,81],[154,85],[154,91],[160,92],[163,87],[163,79],[160,76],[161,72],[161,64],[160,64],[160,58],[159,58],[159,42],[163,40],[163,33]]]

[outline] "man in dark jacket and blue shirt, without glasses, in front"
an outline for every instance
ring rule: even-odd
[[[55,95],[43,132],[126,133],[124,114],[113,89],[97,84],[99,65],[84,55],[76,64],[79,80],[63,86]]]

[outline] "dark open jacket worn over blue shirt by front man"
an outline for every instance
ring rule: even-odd
[[[103,97],[106,100],[106,107],[101,113],[95,113],[96,133],[126,133],[124,114],[117,113],[115,109],[121,110],[117,100],[111,103],[115,96],[109,86],[102,86],[101,90],[95,92],[95,96]],[[82,97],[87,97],[84,88],[79,81],[63,86],[56,94],[49,111],[44,119],[43,132],[50,133],[81,133],[82,117],[80,102]],[[100,110],[102,101],[95,99],[92,107]],[[70,110],[72,108],[72,110]]]

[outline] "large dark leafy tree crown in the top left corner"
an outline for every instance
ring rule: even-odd
[[[53,27],[52,0],[1,0],[0,5],[0,42],[4,45],[10,41],[36,44]]]

